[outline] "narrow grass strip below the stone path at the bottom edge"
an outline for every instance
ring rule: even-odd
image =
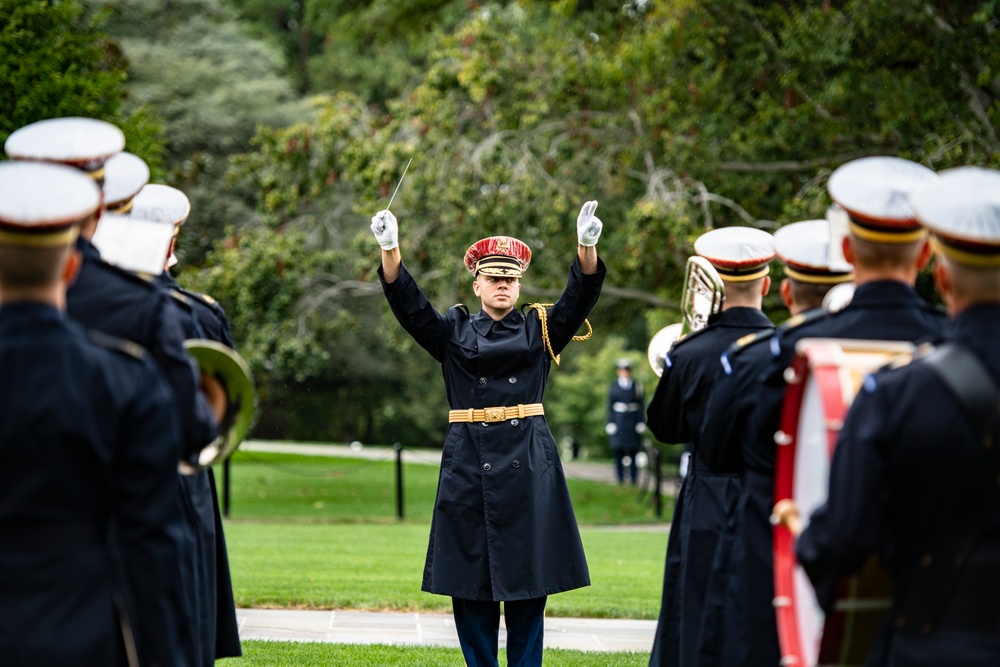
[[[500,651],[505,664],[506,651]],[[220,667],[458,667],[464,665],[458,649],[423,646],[359,646],[354,644],[299,644],[244,641],[242,658],[216,662]],[[546,667],[645,667],[648,653],[588,653],[547,649]]]

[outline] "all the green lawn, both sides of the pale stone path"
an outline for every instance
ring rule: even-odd
[[[450,611],[450,598],[420,591],[437,477],[437,466],[404,466],[400,521],[394,462],[237,452],[226,520],[237,605]],[[569,486],[592,585],[551,596],[546,613],[655,619],[667,535],[650,527],[669,520],[672,499],[664,499],[665,517],[658,519],[635,489],[578,480]],[[245,641],[243,648],[243,658],[219,664],[463,664],[459,650],[445,648],[269,641]],[[648,660],[648,653],[545,653],[547,667],[632,667]]]

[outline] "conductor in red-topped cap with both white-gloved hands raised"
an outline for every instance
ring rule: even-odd
[[[547,596],[590,584],[541,400],[550,363],[558,363],[604,282],[596,207],[587,202],[577,218],[577,257],[562,297],[523,313],[517,300],[531,251],[521,241],[493,236],[473,244],[465,266],[480,310],[441,314],[402,264],[395,216],[372,218],[392,312],[444,373],[450,426],[422,589],[452,597],[469,667],[497,665],[501,601],[508,664],[540,666]]]

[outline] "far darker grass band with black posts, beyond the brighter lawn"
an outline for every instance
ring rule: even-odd
[[[608,463],[608,465],[611,465]],[[237,451],[232,461],[232,519],[299,523],[396,523],[395,463]],[[407,521],[430,521],[438,467],[403,466]],[[220,482],[221,484],[221,482]],[[657,518],[648,498],[627,486],[569,480],[580,525],[669,521],[672,499]]]

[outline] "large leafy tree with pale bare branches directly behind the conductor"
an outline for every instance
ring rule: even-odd
[[[614,4],[476,3],[429,36],[413,86],[385,100],[331,95],[314,122],[262,131],[240,178],[268,224],[353,250],[341,273],[370,281],[367,218],[413,158],[393,210],[407,265],[437,304],[472,301],[459,258],[500,232],[536,252],[526,300],[551,301],[576,208],[596,198],[610,273],[585,345],[624,333],[644,349],[676,321],[684,261],[707,229],[822,217],[826,177],[856,156],[1000,164],[993,0],[973,11],[945,0]],[[310,15],[324,6],[347,7],[313,2]],[[398,57],[403,40],[388,41],[349,50],[352,66]],[[374,331],[398,340],[397,329],[383,318]],[[557,377],[577,375],[576,355]],[[558,385],[553,426],[573,428],[556,395],[570,388]]]

